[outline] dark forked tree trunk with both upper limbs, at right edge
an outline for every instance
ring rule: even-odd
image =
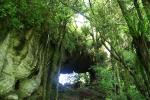
[[[137,87],[137,88],[146,97],[150,97],[150,91],[149,91],[150,90],[150,85],[149,85],[149,80],[150,80],[150,63],[149,63],[149,61],[150,61],[150,58],[149,58],[146,39],[144,38],[145,33],[143,33],[144,32],[143,31],[143,29],[144,29],[143,17],[141,16],[141,12],[140,12],[139,6],[137,4],[137,0],[134,0],[134,5],[135,5],[136,10],[138,12],[139,24],[141,25],[140,27],[138,27],[139,29],[137,32],[137,30],[134,29],[134,27],[132,26],[134,24],[132,23],[132,20],[130,20],[131,18],[129,16],[129,14],[127,13],[128,11],[127,11],[127,7],[125,5],[124,0],[117,0],[117,1],[119,3],[120,8],[121,8],[122,14],[125,17],[125,20],[127,22],[127,25],[128,25],[129,31],[130,31],[130,35],[133,38],[133,45],[135,47],[137,59],[138,59],[138,62],[136,63],[136,65],[138,66],[140,64],[141,76],[144,80],[143,85],[147,87],[147,91],[145,91],[145,93],[142,93],[143,92],[142,87]],[[135,82],[137,81],[136,80],[137,76],[138,75],[136,75],[136,74],[134,75]],[[135,84],[139,84],[139,83],[135,83]],[[137,86],[141,86],[141,85],[139,84]],[[148,93],[148,95],[147,95],[147,93]]]

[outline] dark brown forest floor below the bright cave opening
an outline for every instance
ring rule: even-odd
[[[58,100],[105,100],[104,94],[88,87],[59,91]]]

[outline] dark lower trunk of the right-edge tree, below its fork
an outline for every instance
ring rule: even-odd
[[[133,39],[133,43],[136,49],[137,57],[138,57],[138,63],[140,64],[140,71],[141,75],[143,76],[145,86],[147,87],[147,92],[150,97],[150,59],[149,59],[149,53],[148,48],[145,40],[143,37],[139,37],[136,39]],[[137,63],[137,64],[138,64]]]

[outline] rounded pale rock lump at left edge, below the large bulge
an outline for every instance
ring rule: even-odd
[[[15,78],[10,75],[2,75],[0,77],[0,95],[5,95],[13,90]]]

